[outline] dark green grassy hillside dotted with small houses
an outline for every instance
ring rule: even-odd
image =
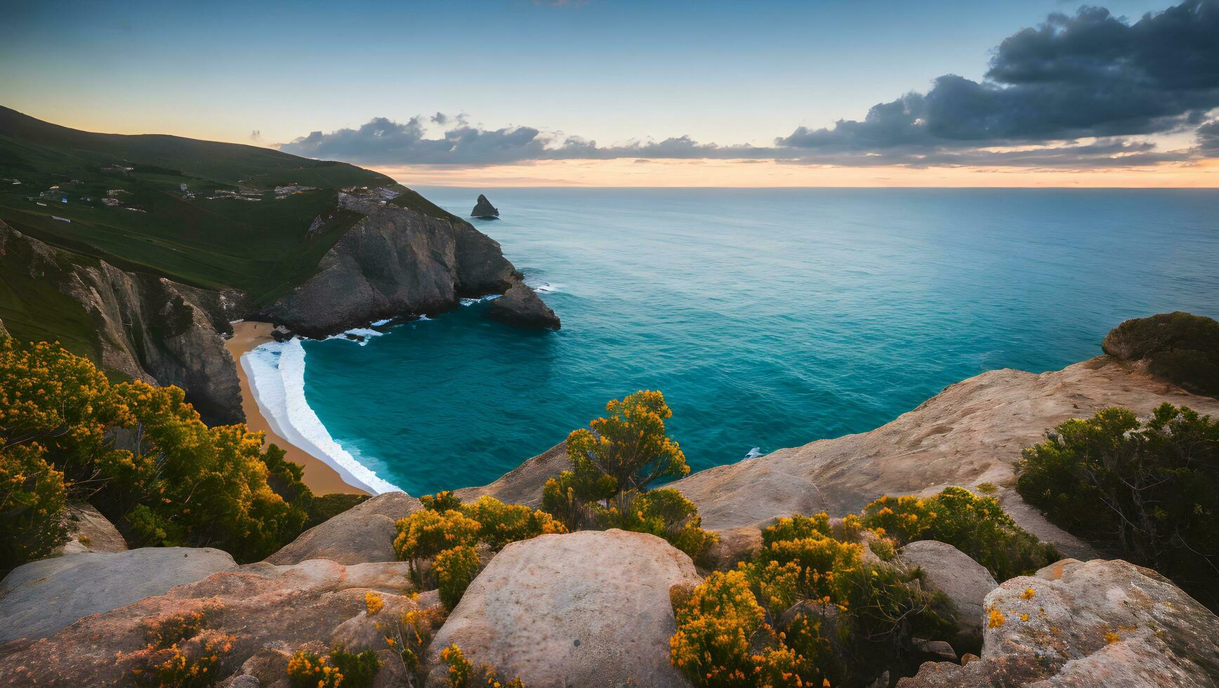
[[[260,302],[308,278],[360,219],[338,208],[338,189],[393,184],[346,163],[179,136],[94,134],[0,107],[0,219],[124,269],[240,289]],[[288,185],[313,189],[275,192]],[[16,284],[9,269],[0,279],[7,283],[0,319],[20,320],[17,309],[34,308],[15,303],[29,285]]]

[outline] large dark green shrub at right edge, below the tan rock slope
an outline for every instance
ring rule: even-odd
[[[1062,423],[1024,452],[1017,490],[1072,533],[1219,608],[1219,421],[1164,403]]]

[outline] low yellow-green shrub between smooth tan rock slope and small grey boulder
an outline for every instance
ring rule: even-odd
[[[978,497],[963,487],[947,487],[926,499],[881,497],[864,508],[863,524],[898,546],[917,539],[946,542],[1000,582],[1062,559],[1053,546],[1018,526],[993,497]]]

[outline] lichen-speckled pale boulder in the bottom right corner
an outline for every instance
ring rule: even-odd
[[[1029,592],[1031,591],[1031,592]],[[1067,559],[986,597],[981,659],[924,664],[902,688],[1214,686],[1219,617],[1125,561]]]

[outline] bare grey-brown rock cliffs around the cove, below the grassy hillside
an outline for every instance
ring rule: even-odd
[[[386,202],[406,195],[410,207]],[[45,339],[76,331],[78,353],[106,369],[180,386],[206,421],[238,423],[244,420],[240,387],[223,346],[230,320],[266,319],[321,337],[379,319],[447,311],[463,297],[511,292],[516,297],[496,309],[497,319],[558,328],[558,318],[496,241],[424,203],[401,188],[340,192],[339,207],[363,218],[325,252],[311,278],[269,304],[238,290],[197,289],[119,269],[26,236],[2,220],[0,257],[6,274],[27,280],[27,290],[50,287],[49,298],[71,300],[67,307],[32,309],[38,311],[32,319],[49,320],[41,326]],[[302,239],[308,231],[301,228]]]

